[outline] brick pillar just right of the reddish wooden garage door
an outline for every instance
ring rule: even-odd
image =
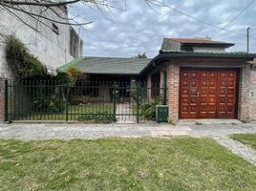
[[[250,64],[244,64],[240,74],[239,98],[238,98],[238,119],[249,121],[249,82]]]

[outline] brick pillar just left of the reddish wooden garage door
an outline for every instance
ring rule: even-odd
[[[180,67],[178,64],[171,63],[167,69],[167,88],[169,118],[172,120],[179,119],[179,84]]]

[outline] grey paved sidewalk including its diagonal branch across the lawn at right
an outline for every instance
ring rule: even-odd
[[[229,121],[230,122],[230,121]],[[199,125],[200,124],[200,125]],[[231,134],[256,134],[256,124],[181,121],[177,126],[167,123],[141,124],[84,124],[84,123],[0,123],[0,138],[23,140],[72,139],[72,138],[166,138],[190,136],[194,138],[214,138],[224,147],[240,157],[256,164],[256,151],[229,138]]]

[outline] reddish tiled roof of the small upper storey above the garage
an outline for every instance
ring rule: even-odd
[[[172,40],[175,42],[187,43],[187,44],[224,44],[224,45],[234,45],[233,43],[214,41],[210,39],[202,39],[202,38],[166,38],[168,40]]]

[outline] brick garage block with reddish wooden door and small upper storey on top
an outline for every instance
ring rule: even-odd
[[[199,38],[164,39],[159,55],[141,75],[167,75],[169,117],[252,117],[250,73],[255,54],[225,53],[232,43]],[[162,78],[162,77],[159,77]],[[149,83],[150,84],[150,83]]]

